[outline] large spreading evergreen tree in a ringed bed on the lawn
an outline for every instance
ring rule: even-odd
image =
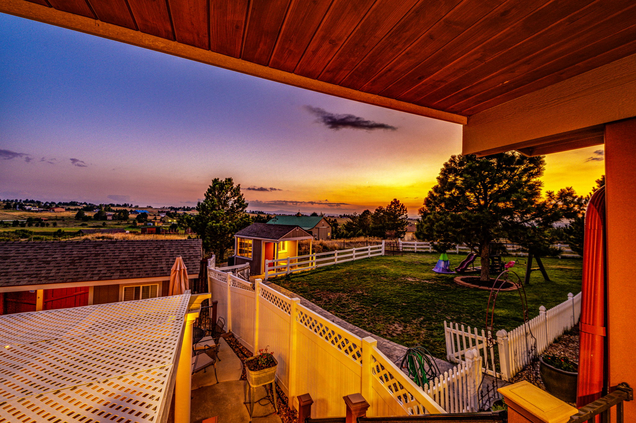
[[[520,236],[533,222],[556,221],[567,212],[557,207],[567,192],[542,197],[544,169],[543,156],[453,155],[419,210],[417,237],[468,245],[480,255],[481,280],[487,281],[491,242]]]

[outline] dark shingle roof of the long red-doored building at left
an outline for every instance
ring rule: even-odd
[[[177,256],[197,273],[201,240],[0,242],[0,287],[170,277]]]

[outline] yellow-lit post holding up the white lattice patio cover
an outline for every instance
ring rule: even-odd
[[[190,395],[192,391],[192,327],[199,311],[186,314],[186,327],[181,341],[181,353],[174,385],[174,423],[190,423]]]

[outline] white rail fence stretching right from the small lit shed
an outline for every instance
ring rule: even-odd
[[[367,247],[265,260],[265,269],[268,270],[265,271],[265,280],[272,276],[289,275],[295,271],[314,270],[322,266],[377,256],[384,256],[384,241],[382,244],[368,245]]]

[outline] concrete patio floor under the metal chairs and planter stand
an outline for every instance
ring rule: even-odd
[[[212,367],[209,367],[207,372],[199,372],[192,376],[191,423],[201,423],[203,420],[215,416],[218,417],[218,423],[249,422],[249,412],[243,404],[247,382],[239,381],[243,364],[223,338],[221,338],[219,358],[221,360],[216,363],[218,383],[214,378],[214,368]],[[258,387],[256,399],[264,396],[265,387]],[[273,406],[270,403],[266,405],[255,403],[252,421],[255,423],[280,423],[281,420],[277,414],[270,414],[273,411]]]

